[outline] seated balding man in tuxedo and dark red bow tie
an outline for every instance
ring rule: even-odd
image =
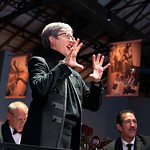
[[[23,102],[12,102],[8,106],[7,121],[0,124],[0,136],[3,142],[20,144],[27,116],[28,107]]]

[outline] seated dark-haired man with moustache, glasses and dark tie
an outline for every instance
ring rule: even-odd
[[[137,134],[137,120],[131,110],[118,113],[116,126],[121,137],[104,147],[104,150],[150,150],[150,136]]]

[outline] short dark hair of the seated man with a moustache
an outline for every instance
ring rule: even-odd
[[[135,113],[132,110],[122,110],[117,114],[116,124],[120,124],[122,126],[122,114],[132,113],[135,116]]]

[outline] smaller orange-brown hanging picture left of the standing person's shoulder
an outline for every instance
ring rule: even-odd
[[[5,98],[25,98],[28,85],[29,56],[13,56],[10,63]]]

